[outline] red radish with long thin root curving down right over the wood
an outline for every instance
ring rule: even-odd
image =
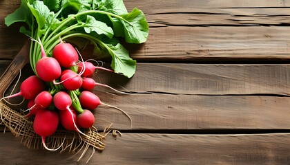
[[[96,109],[100,104],[118,109],[119,111],[122,111],[125,115],[128,116],[128,118],[131,121],[131,127],[132,127],[132,119],[125,111],[113,105],[105,104],[104,102],[101,102],[101,100],[99,100],[99,97],[90,91],[81,91],[81,94],[79,94],[79,102],[81,102],[81,107],[83,107],[84,109],[93,110],[93,109]]]

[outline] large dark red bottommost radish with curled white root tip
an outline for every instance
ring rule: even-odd
[[[44,148],[49,151],[56,151],[56,149],[50,149],[46,146],[46,137],[52,135],[57,131],[57,126],[59,125],[59,114],[55,111],[50,111],[46,109],[39,109],[35,115],[35,120],[33,122],[33,129],[37,135],[41,136],[42,144]]]

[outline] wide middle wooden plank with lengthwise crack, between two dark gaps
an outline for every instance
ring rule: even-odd
[[[280,95],[289,95],[290,65],[137,66],[130,80],[108,72],[94,77],[133,94],[107,94],[111,90],[104,87],[93,91],[103,102],[126,111],[133,130],[289,129],[290,98]],[[131,129],[117,109],[99,107],[94,113],[99,129],[110,123],[114,129]]]

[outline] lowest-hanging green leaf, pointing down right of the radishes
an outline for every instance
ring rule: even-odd
[[[136,61],[129,56],[128,50],[120,43],[117,43],[117,45],[106,45],[109,48],[109,54],[112,56],[110,67],[112,67],[116,73],[124,74],[124,76],[131,78],[136,71]]]

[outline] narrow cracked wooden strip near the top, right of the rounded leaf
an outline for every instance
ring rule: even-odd
[[[287,25],[289,8],[173,8],[146,13],[151,27],[156,26],[257,26]]]

